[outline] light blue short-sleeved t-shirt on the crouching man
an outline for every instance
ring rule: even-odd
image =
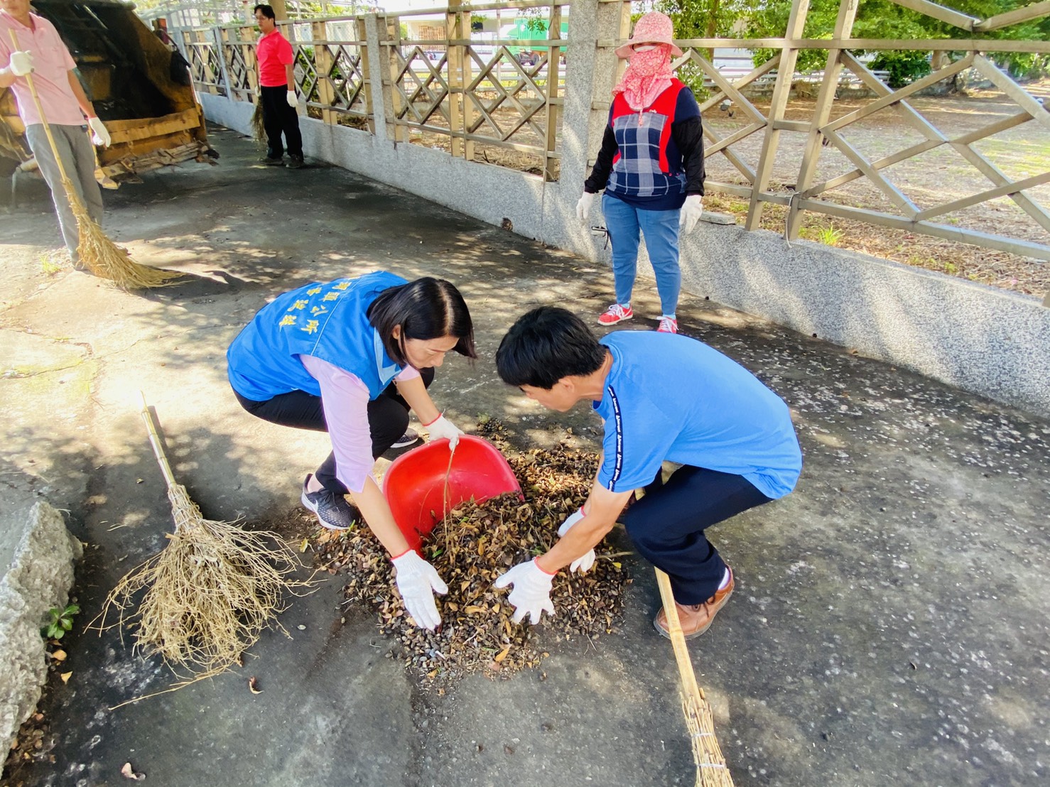
[[[795,488],[802,453],[788,405],[743,366],[677,334],[617,331],[601,343],[613,359],[594,404],[606,489],[645,486],[665,460],[742,475],[768,497]]]

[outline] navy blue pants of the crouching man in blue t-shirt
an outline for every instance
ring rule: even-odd
[[[742,475],[685,465],[666,484],[646,487],[624,523],[638,553],[670,577],[674,599],[698,604],[715,594],[726,573],[704,531],[771,499]]]

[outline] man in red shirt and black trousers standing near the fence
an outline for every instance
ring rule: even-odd
[[[255,6],[255,21],[262,37],[256,46],[259,64],[259,101],[262,104],[262,125],[266,128],[267,153],[264,164],[279,167],[288,147],[291,169],[302,166],[302,134],[295,99],[295,56],[288,39],[277,29],[272,5]],[[280,135],[285,134],[285,145]]]

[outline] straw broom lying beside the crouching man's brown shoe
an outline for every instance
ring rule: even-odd
[[[668,632],[674,647],[674,659],[678,662],[678,676],[681,678],[681,712],[686,717],[686,726],[693,742],[696,787],[733,787],[733,778],[715,738],[715,722],[711,715],[711,706],[696,683],[693,662],[689,658],[686,637],[681,633],[681,623],[678,620],[678,608],[674,605],[671,580],[659,569],[656,569],[656,584],[659,586]]]

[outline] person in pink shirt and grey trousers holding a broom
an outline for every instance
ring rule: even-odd
[[[12,31],[18,46],[12,43]],[[9,87],[15,92],[29,149],[51,190],[51,200],[69,258],[76,268],[80,268],[77,217],[69,207],[59,165],[43,126],[46,121],[62,167],[87,208],[87,214],[96,224],[101,224],[102,192],[94,180],[94,149],[91,143],[108,146],[110,137],[74,72],[76,67],[55,25],[33,14],[29,0],[0,0],[0,88]],[[29,91],[26,76],[30,73],[43,118],[37,111]],[[92,137],[87,135],[85,119]]]

